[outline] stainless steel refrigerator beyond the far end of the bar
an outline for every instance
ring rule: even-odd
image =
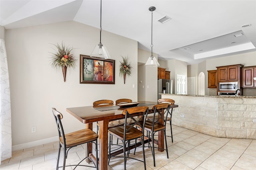
[[[172,94],[172,80],[168,79],[158,79],[158,99],[161,98],[161,94],[159,93],[166,93]]]

